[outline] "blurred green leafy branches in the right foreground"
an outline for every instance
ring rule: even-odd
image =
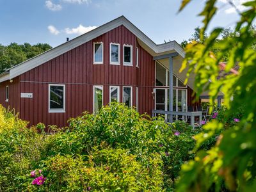
[[[204,133],[195,136],[194,150],[197,151],[221,132],[214,147],[206,152],[198,150],[194,160],[182,165],[177,191],[256,190],[256,54],[253,50],[256,33],[252,30],[256,1],[244,3],[244,6],[246,9],[240,14],[234,35],[224,31],[228,37],[220,39],[223,29],[216,28],[204,42],[192,42],[186,47],[186,58],[180,70],[188,67],[188,76],[191,72],[196,74],[195,91],[198,95],[209,91],[211,104],[218,93],[223,92],[227,108],[220,110],[217,120],[204,126]],[[200,13],[204,17],[200,40],[216,9],[215,0],[206,1]],[[214,51],[216,47],[218,51]],[[227,72],[239,61],[239,73],[218,80],[219,62],[223,60],[228,61]],[[234,118],[240,121],[234,122]]]

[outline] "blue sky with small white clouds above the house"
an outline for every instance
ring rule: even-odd
[[[227,0],[219,0],[216,26],[232,27],[238,19]],[[232,0],[239,9],[246,0]],[[157,44],[182,42],[196,26],[205,0],[193,0],[177,13],[181,0],[0,0],[0,44],[47,43],[52,47],[124,15]]]

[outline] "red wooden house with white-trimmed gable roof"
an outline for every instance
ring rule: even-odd
[[[177,42],[157,45],[122,16],[0,74],[0,103],[31,125],[67,125],[113,100],[140,113],[186,111],[193,77],[182,83],[183,58]]]

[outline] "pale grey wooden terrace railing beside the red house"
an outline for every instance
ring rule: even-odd
[[[152,110],[152,115],[156,116],[157,114],[161,115],[170,115],[170,119],[173,118],[173,115],[182,115],[190,116],[191,121],[190,125],[195,129],[195,116],[199,116],[199,125],[202,125],[202,111],[193,111],[193,112],[184,112],[184,111],[164,111],[164,110]]]

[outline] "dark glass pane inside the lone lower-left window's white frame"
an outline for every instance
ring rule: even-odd
[[[50,86],[50,109],[63,109],[63,86]]]

